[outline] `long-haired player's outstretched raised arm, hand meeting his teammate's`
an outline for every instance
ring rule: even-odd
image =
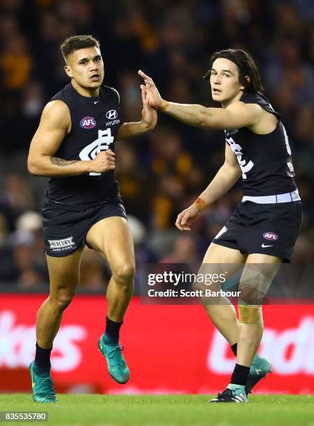
[[[258,134],[270,133],[276,127],[276,117],[257,104],[245,104],[239,101],[223,109],[167,102],[160,96],[151,77],[142,71],[139,71],[138,74],[144,79],[147,87],[149,105],[188,125],[220,130],[249,127],[252,132]]]

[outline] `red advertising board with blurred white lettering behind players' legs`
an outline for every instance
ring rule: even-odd
[[[27,368],[35,352],[35,315],[44,298],[1,294],[2,392],[31,390]],[[234,356],[201,306],[149,306],[138,297],[126,313],[121,336],[131,379],[115,384],[97,349],[106,310],[105,297],[78,295],[65,311],[51,356],[59,391],[215,393],[228,384]],[[265,305],[263,313],[258,352],[270,359],[272,374],[254,392],[314,393],[314,300],[311,305]]]

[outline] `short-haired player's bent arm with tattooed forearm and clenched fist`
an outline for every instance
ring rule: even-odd
[[[99,152],[90,161],[67,161],[54,157],[70,129],[71,116],[67,105],[60,100],[49,102],[42,111],[40,125],[28,153],[27,166],[32,175],[60,178],[90,172],[104,173],[115,168],[115,154],[111,150]]]

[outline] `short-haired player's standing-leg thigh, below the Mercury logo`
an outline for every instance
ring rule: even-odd
[[[78,285],[83,247],[73,253],[56,258],[46,255],[50,281],[50,296],[63,292],[73,296]]]

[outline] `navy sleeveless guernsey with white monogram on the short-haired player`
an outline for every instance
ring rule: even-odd
[[[102,150],[114,151],[115,137],[122,125],[117,90],[101,86],[99,97],[85,97],[68,84],[51,100],[67,104],[72,123],[71,132],[53,157],[86,161],[94,159]],[[75,210],[106,203],[118,196],[119,185],[113,170],[50,178],[45,194],[49,203],[73,206]]]

